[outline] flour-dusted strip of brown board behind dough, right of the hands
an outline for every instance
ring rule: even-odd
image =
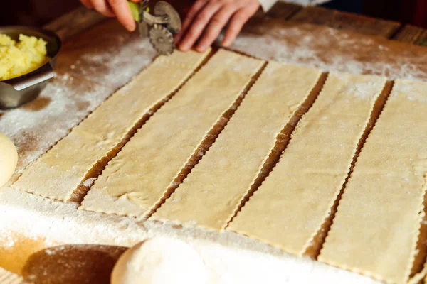
[[[425,47],[307,23],[260,21],[246,26],[231,48],[325,71],[427,80]]]

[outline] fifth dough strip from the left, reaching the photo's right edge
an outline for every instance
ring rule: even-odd
[[[320,261],[389,283],[408,280],[426,192],[426,114],[427,83],[396,80],[344,190]]]

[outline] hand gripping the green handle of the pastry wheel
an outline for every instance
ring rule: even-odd
[[[80,0],[88,9],[95,9],[107,17],[117,17],[117,20],[125,26],[128,31],[134,31],[136,24],[130,13],[127,0]],[[130,0],[138,3],[141,0]]]

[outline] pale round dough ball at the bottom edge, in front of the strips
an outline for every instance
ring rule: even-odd
[[[148,239],[125,251],[111,274],[112,284],[204,284],[207,271],[199,254],[177,239]]]

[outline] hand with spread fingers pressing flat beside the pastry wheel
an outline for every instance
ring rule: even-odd
[[[259,0],[196,0],[175,36],[180,50],[204,52],[229,22],[222,45],[231,45],[243,25],[260,7]],[[196,40],[199,42],[195,45]]]

